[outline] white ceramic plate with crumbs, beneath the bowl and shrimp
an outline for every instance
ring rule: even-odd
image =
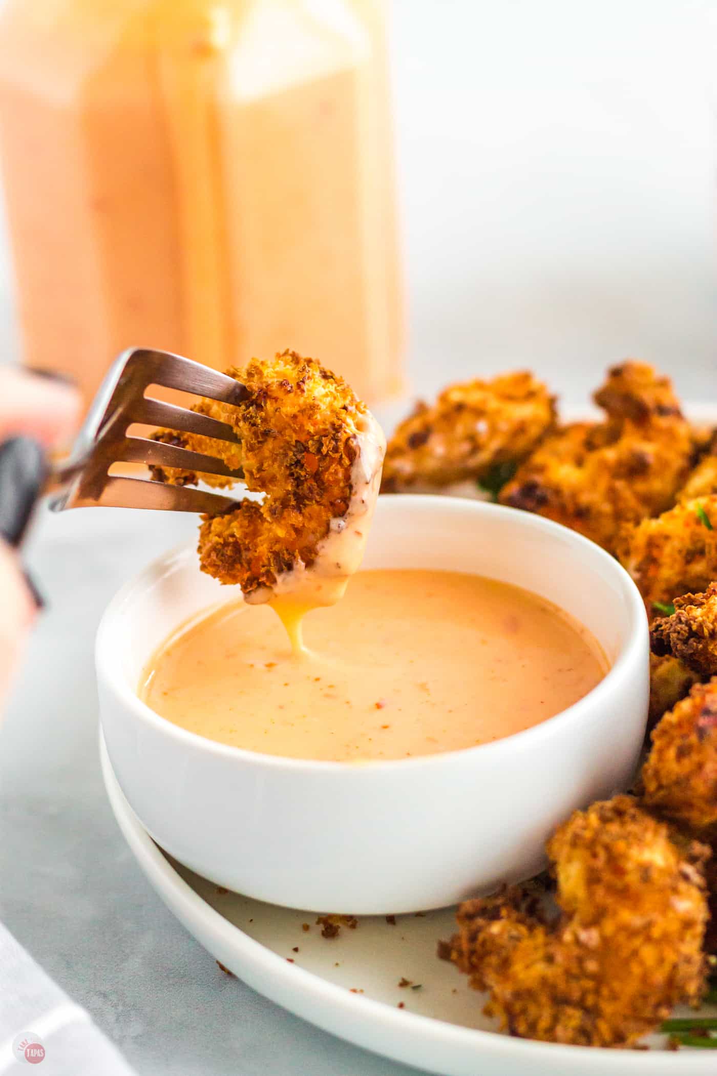
[[[397,916],[396,925],[383,916],[362,917],[354,930],[342,926],[327,939],[315,914],[218,890],[152,840],[117,783],[102,738],[100,754],[119,827],[164,904],[225,967],[325,1031],[442,1076],[714,1076],[711,1050],[665,1052],[659,1036],[651,1039],[656,1048],[643,1052],[497,1033],[482,1015],[481,995],[436,959],[436,942],[454,932],[453,908]],[[420,989],[399,987],[402,978]]]

